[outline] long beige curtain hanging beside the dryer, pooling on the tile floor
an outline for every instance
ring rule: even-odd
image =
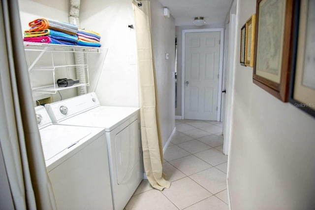
[[[170,187],[162,173],[162,142],[158,120],[158,95],[154,57],[151,43],[150,1],[141,0],[138,7],[133,1],[135,33],[138,53],[138,78],[141,110],[141,138],[144,169],[150,184],[162,190]]]

